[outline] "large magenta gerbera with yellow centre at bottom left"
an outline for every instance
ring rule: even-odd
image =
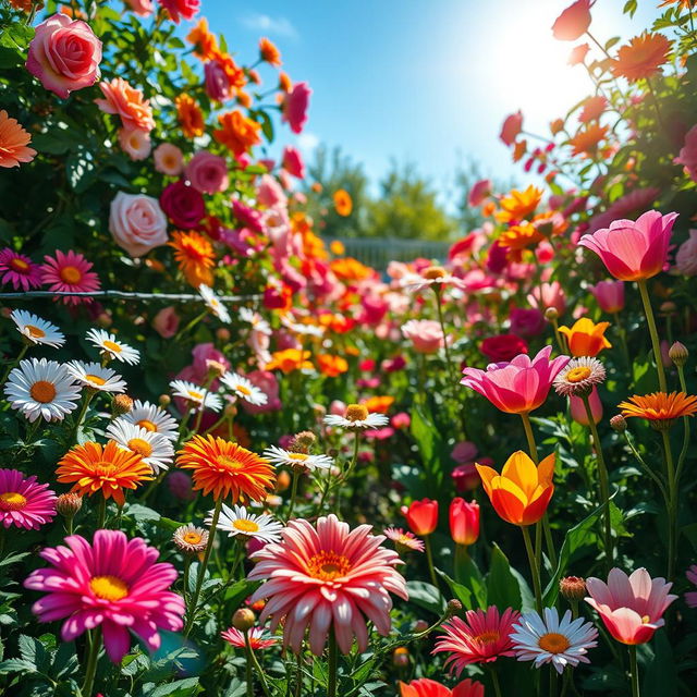
[[[65,619],[63,641],[101,625],[107,656],[114,663],[131,648],[130,631],[151,651],[160,647],[159,628],[182,628],[184,600],[168,588],[176,580],[172,564],[157,563],[159,551],[120,530],[97,530],[91,545],[80,535],[68,547],[39,553],[51,566],[38,568],[25,588],[48,595],[34,603],[40,622]]]

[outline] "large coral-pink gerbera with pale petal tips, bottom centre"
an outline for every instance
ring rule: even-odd
[[[291,521],[280,542],[256,552],[259,561],[248,578],[266,583],[250,602],[268,599],[259,620],[271,616],[272,632],[285,617],[284,646],[297,653],[309,627],[315,656],[321,656],[330,631],[342,653],[351,651],[354,637],[363,652],[366,617],[382,636],[390,633],[389,591],[406,600],[406,582],[394,568],[401,563],[396,552],[382,547],[384,537],[370,529],[351,530],[335,515],[320,517],[316,529],[307,521]]]

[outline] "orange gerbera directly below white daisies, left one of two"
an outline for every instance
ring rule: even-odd
[[[58,481],[74,484],[72,491],[93,496],[101,491],[105,499],[125,503],[124,489],[135,489],[150,481],[152,469],[138,453],[120,448],[110,440],[105,447],[87,442],[75,445],[58,463]]]

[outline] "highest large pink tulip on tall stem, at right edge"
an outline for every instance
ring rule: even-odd
[[[610,228],[584,235],[579,245],[595,252],[608,271],[621,281],[646,280],[665,266],[677,213],[649,210],[632,220],[615,220]]]

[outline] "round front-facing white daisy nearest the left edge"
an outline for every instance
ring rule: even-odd
[[[77,407],[81,389],[65,366],[32,358],[20,360],[20,366],[12,369],[4,393],[12,408],[32,423],[39,416],[47,421],[62,421]]]

